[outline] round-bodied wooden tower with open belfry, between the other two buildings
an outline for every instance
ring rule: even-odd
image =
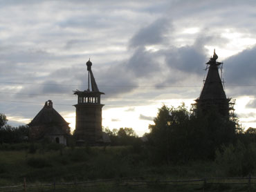
[[[75,136],[77,142],[98,144],[102,142],[102,107],[104,105],[100,104],[100,95],[104,93],[100,92],[93,77],[90,59],[86,66],[88,70],[88,89],[74,91],[74,95],[77,95]]]

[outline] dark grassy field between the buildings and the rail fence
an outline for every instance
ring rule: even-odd
[[[22,184],[24,177],[30,184],[81,182],[89,180],[114,179],[112,184],[103,182],[99,186],[56,185],[55,191],[201,191],[198,185],[161,185],[158,180],[188,180],[205,177],[225,177],[214,162],[190,162],[183,165],[152,164],[147,156],[134,151],[129,146],[58,148],[37,147],[36,153],[28,153],[29,148],[0,151],[0,186]],[[120,178],[138,177],[139,180],[156,181],[154,184],[133,186],[120,183]],[[123,186],[124,185],[124,186]],[[49,186],[51,189],[53,186]],[[68,189],[62,189],[62,188]],[[210,186],[210,191],[225,189],[247,190],[247,185],[235,188],[225,184]],[[43,189],[38,189],[44,191]],[[1,191],[1,189],[0,189]],[[29,191],[29,190],[28,190]],[[35,191],[35,190],[34,190]]]

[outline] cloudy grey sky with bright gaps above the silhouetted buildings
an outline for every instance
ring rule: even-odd
[[[227,97],[256,127],[256,1],[0,0],[0,113],[28,124],[48,99],[75,128],[91,59],[102,126],[149,132],[163,104],[190,108],[215,48]]]

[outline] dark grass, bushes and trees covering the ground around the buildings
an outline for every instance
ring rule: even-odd
[[[164,105],[144,141],[132,128],[113,131],[104,128],[111,138],[109,146],[75,146],[72,135],[68,146],[30,142],[26,140],[27,126],[13,128],[8,126],[5,115],[0,117],[0,186],[21,184],[24,177],[26,182],[37,184],[131,177],[149,181],[196,180],[256,174],[256,129],[244,131],[236,118],[223,118],[214,108],[208,114],[195,116],[184,105],[178,108]],[[119,187],[121,191],[129,191],[124,186],[113,187],[89,190],[116,191]],[[140,191],[154,189],[147,187]],[[156,186],[155,191],[170,191],[172,187]],[[208,187],[210,191],[221,191],[221,187],[226,190],[222,185]],[[235,190],[228,187],[229,191]],[[247,189],[239,187],[240,191]],[[186,186],[179,188],[182,189],[192,190]]]

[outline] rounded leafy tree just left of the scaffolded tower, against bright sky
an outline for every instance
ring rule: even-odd
[[[185,153],[188,135],[189,112],[185,105],[178,108],[168,108],[163,105],[158,109],[154,125],[149,125],[149,144],[152,144],[155,156],[159,160],[180,161]]]

